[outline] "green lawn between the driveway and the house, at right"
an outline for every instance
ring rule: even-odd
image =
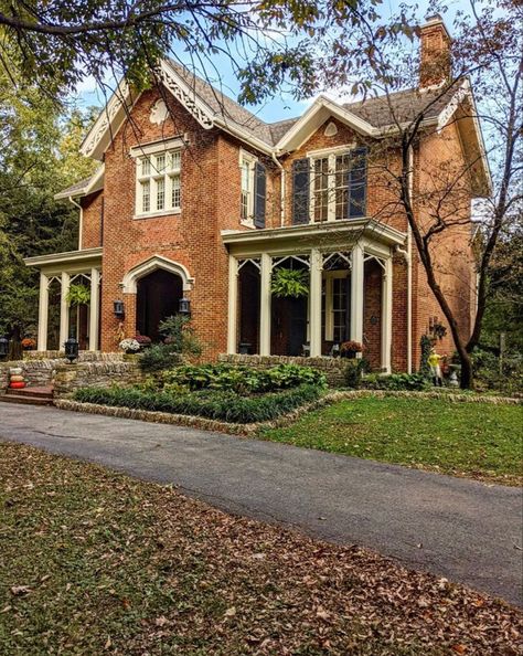
[[[364,398],[259,437],[516,485],[523,474],[522,426],[517,405]]]

